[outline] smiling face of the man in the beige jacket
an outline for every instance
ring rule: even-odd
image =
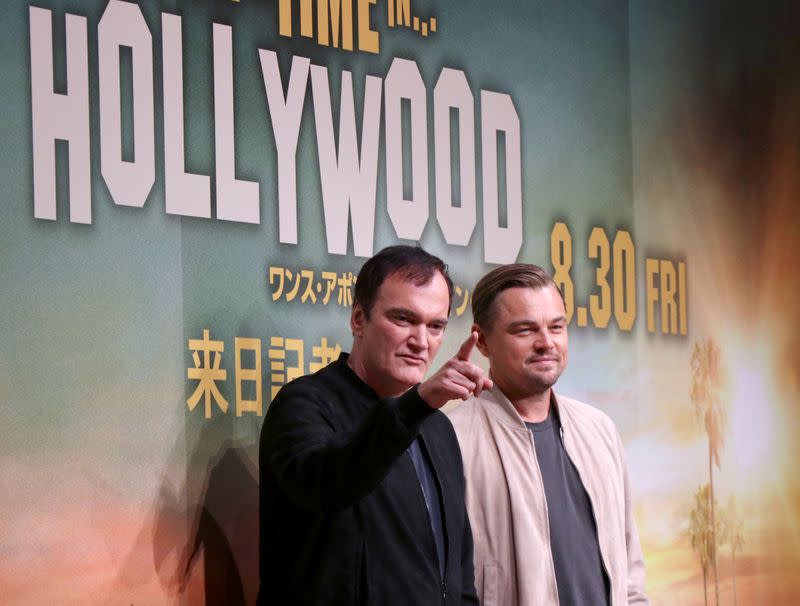
[[[492,304],[491,327],[478,330],[492,380],[512,402],[549,395],[567,365],[564,302],[553,286],[509,288]]]

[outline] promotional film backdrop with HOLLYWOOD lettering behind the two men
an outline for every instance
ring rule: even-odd
[[[553,272],[654,603],[800,600],[791,4],[6,2],[3,601],[253,603],[264,414],[416,242],[435,365]]]

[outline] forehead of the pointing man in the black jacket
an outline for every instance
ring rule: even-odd
[[[425,317],[446,318],[450,293],[444,276],[438,271],[427,284],[422,285],[393,273],[378,288],[375,307],[383,311],[402,308]]]

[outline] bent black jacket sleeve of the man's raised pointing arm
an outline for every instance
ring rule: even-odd
[[[383,479],[434,411],[413,388],[377,400],[354,430],[335,431],[326,398],[307,383],[287,385],[264,420],[259,465],[296,505],[337,511]]]

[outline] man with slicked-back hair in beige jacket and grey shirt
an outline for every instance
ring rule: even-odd
[[[619,434],[553,391],[568,353],[555,283],[536,265],[499,267],[475,286],[472,313],[494,386],[450,418],[481,604],[648,604]]]

